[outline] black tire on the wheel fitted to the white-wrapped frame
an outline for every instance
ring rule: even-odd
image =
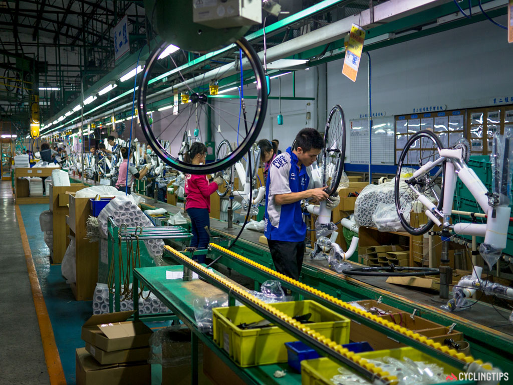
[[[404,147],[403,151],[401,152],[401,156],[399,157],[399,162],[397,164],[397,170],[396,170],[396,181],[394,183],[394,200],[396,201],[396,212],[397,212],[397,215],[399,217],[399,221],[401,222],[401,225],[403,225],[403,228],[408,232],[410,233],[411,235],[422,235],[422,234],[425,234],[429,231],[429,229],[431,229],[434,225],[433,221],[431,219],[429,219],[427,221],[427,223],[422,226],[419,230],[416,230],[416,229],[413,229],[411,227],[411,225],[409,224],[408,221],[406,221],[406,219],[403,217],[403,215],[401,214],[401,199],[400,199],[400,191],[399,191],[399,185],[400,185],[400,182],[401,182],[401,178],[400,178],[400,175],[401,175],[401,169],[402,169],[402,166],[403,166],[403,161],[404,161],[404,158],[407,154],[407,149],[409,149],[409,147],[413,144],[413,142],[415,140],[417,140],[417,138],[421,137],[421,136],[427,136],[429,137],[430,139],[432,139],[433,141],[435,141],[435,144],[438,146],[439,149],[442,148],[442,143],[440,141],[440,139],[438,138],[438,136],[433,133],[432,131],[429,131],[429,130],[422,130],[422,131],[419,131],[415,134],[413,134],[413,136],[411,136],[409,138],[409,140],[407,141],[406,143],[406,146]],[[441,166],[442,167],[442,173],[441,173],[441,177],[442,177],[442,188],[441,188],[441,193],[440,193],[440,199],[438,200],[438,205],[437,205],[437,209],[440,210],[443,206],[443,202],[444,202],[444,190],[445,190],[445,184],[444,184],[444,175],[445,175],[445,163]]]

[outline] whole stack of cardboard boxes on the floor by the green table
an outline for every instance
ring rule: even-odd
[[[77,385],[151,383],[147,362],[151,329],[127,321],[134,311],[93,315],[82,326],[85,348],[76,350]]]

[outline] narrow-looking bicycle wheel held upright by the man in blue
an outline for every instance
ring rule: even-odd
[[[327,186],[326,193],[328,195],[333,195],[339,188],[342,171],[344,171],[344,158],[346,156],[344,111],[338,104],[329,113],[324,129],[324,143],[321,171],[322,185]]]

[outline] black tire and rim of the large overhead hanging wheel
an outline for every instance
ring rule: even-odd
[[[249,148],[256,141],[258,135],[260,134],[260,130],[262,129],[262,125],[264,124],[266,110],[267,110],[267,85],[265,79],[264,68],[262,67],[262,63],[260,62],[260,58],[257,52],[254,50],[253,46],[251,46],[248,41],[242,37],[241,39],[235,42],[235,45],[239,46],[242,49],[246,57],[251,65],[251,68],[255,72],[255,81],[257,82],[257,89],[260,87],[260,93],[257,96],[257,110],[255,111],[255,118],[253,121],[253,125],[249,129],[248,134],[242,141],[242,143],[232,152],[232,155],[229,158],[223,159],[221,161],[214,161],[212,163],[207,163],[205,165],[192,165],[186,164],[183,161],[173,157],[171,154],[167,153],[167,151],[163,148],[162,145],[157,141],[156,137],[153,135],[153,131],[151,130],[148,115],[146,114],[146,92],[147,85],[149,82],[149,77],[151,73],[151,69],[156,62],[157,57],[159,57],[160,53],[163,49],[167,47],[167,43],[162,43],[160,47],[157,47],[153,50],[150,55],[147,65],[144,69],[143,76],[141,78],[141,83],[139,85],[139,94],[138,94],[138,103],[139,103],[139,111],[140,111],[140,119],[141,119],[141,127],[143,129],[144,136],[148,141],[150,147],[155,151],[155,154],[159,155],[164,162],[171,166],[172,168],[182,171],[184,173],[189,174],[213,174],[215,172],[224,170],[225,168],[232,166],[236,163],[236,161],[240,160],[245,153],[249,151]]]

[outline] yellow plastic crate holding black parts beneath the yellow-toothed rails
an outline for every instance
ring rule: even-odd
[[[271,306],[289,316],[311,313],[305,326],[340,343],[349,342],[350,320],[312,300],[273,303]],[[214,341],[241,367],[287,362],[285,342],[297,341],[292,335],[273,326],[243,330],[236,325],[263,318],[245,306],[216,308],[212,312]]]

